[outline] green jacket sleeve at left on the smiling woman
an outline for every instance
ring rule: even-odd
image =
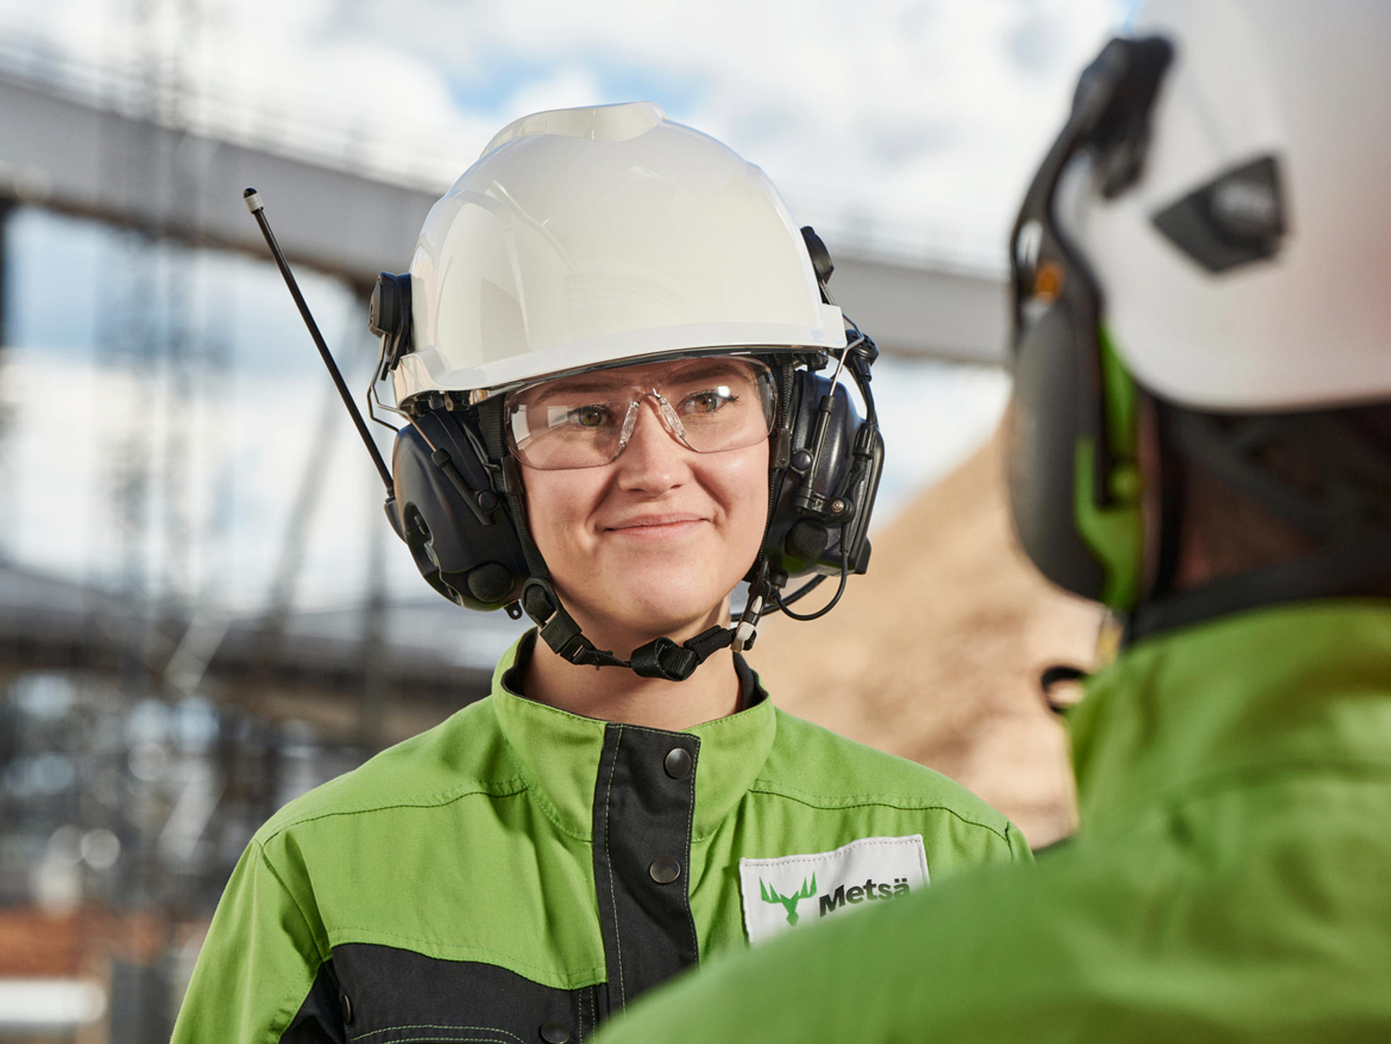
[[[328,955],[314,923],[252,841],[217,905],[172,1044],[278,1041]]]

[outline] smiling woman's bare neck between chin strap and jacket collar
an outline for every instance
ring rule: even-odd
[[[709,619],[673,632],[669,638],[682,643],[723,624],[725,617],[726,611],[719,607]],[[627,650],[654,638],[604,633],[601,628],[579,622],[590,640],[601,649]],[[672,732],[727,717],[739,710],[740,703],[739,672],[729,649],[711,653],[686,681],[668,682],[643,678],[622,667],[580,667],[562,660],[544,642],[537,642],[523,668],[522,690],[527,699],[572,714]]]

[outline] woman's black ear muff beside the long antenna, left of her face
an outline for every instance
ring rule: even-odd
[[[495,610],[520,597],[526,557],[466,423],[433,409],[401,429],[387,515],[431,587],[466,608]]]

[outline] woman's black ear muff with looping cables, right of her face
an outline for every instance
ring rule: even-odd
[[[791,388],[789,464],[768,526],[768,568],[779,583],[807,574],[837,575],[842,564],[862,574],[869,565],[867,537],[883,438],[860,419],[844,384],[797,370]]]

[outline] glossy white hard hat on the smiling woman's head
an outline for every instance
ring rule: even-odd
[[[758,167],[651,102],[505,127],[426,219],[396,401],[704,348],[843,348]]]

